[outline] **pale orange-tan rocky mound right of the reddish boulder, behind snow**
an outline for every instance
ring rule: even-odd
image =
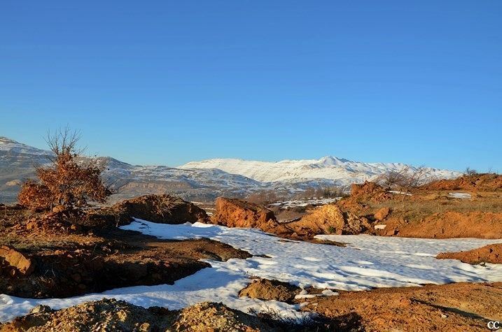
[[[342,212],[337,205],[316,208],[298,222],[288,224],[298,234],[359,234],[370,228],[368,219]]]

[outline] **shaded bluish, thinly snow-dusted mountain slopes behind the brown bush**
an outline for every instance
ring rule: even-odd
[[[20,183],[34,178],[34,166],[48,163],[52,152],[5,137],[0,138],[0,203],[16,200]],[[104,169],[106,183],[116,190],[111,201],[144,194],[172,193],[184,199],[213,200],[217,196],[245,195],[267,185],[243,175],[218,169],[179,169],[168,166],[134,166],[111,157],[78,157],[94,160]]]

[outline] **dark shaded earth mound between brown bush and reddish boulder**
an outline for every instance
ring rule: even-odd
[[[130,222],[132,217],[161,224],[209,221],[206,211],[197,205],[167,194],[127,199],[113,205],[110,210],[118,215],[122,223]]]

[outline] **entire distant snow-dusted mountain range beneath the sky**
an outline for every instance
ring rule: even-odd
[[[34,178],[34,166],[48,163],[51,154],[0,137],[0,202],[14,202],[22,180]],[[293,194],[309,187],[347,188],[351,183],[372,180],[387,171],[406,167],[399,163],[363,163],[329,156],[277,162],[207,159],[178,167],[131,165],[112,157],[92,159],[104,169],[104,180],[116,189],[111,201],[166,192],[190,201],[212,201],[217,196],[246,196],[260,190]],[[459,175],[456,171],[428,168],[431,178]]]

